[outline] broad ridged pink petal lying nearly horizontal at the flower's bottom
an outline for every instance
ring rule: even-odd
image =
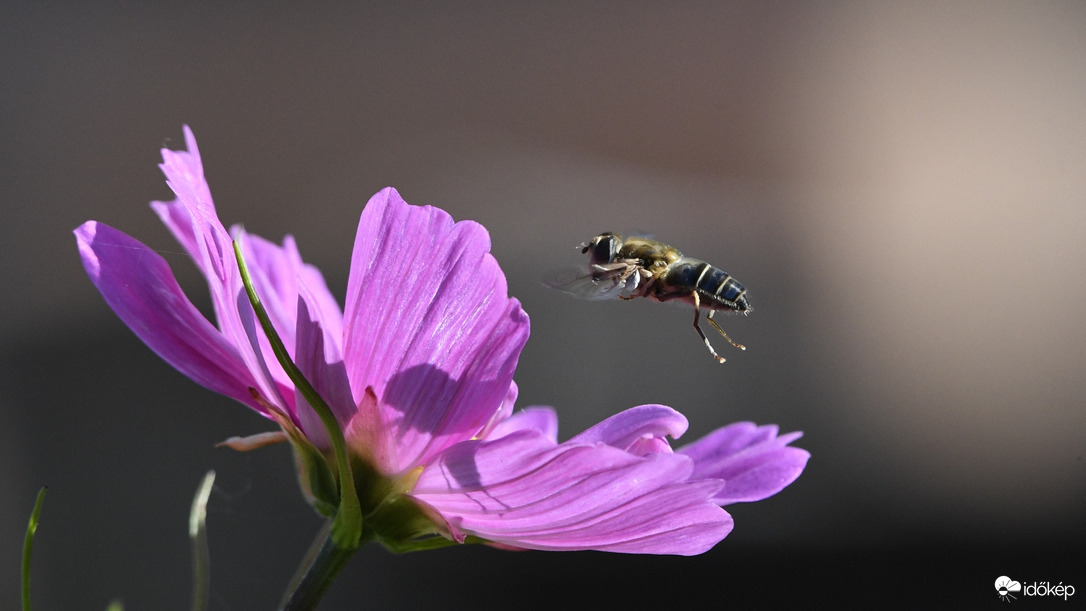
[[[721,482],[690,482],[692,468],[679,455],[555,445],[522,430],[453,446],[411,494],[454,532],[508,546],[690,556],[732,529],[709,501]]]

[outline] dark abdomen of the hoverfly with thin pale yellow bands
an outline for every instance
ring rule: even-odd
[[[656,280],[653,296],[661,302],[679,300],[694,303],[697,291],[702,307],[750,311],[746,289],[722,269],[691,257],[682,257],[668,266]]]

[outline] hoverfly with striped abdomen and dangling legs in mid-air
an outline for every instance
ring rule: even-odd
[[[678,250],[648,238],[622,238],[610,231],[582,243],[581,253],[589,253],[589,265],[574,273],[547,282],[554,289],[582,300],[633,300],[649,297],[658,302],[684,302],[694,306],[694,330],[719,362],[717,354],[698,326],[702,308],[706,318],[720,331],[728,343],[741,351],[712,319],[717,311],[749,314],[750,302],[743,288],[728,272],[704,260],[687,257]]]

